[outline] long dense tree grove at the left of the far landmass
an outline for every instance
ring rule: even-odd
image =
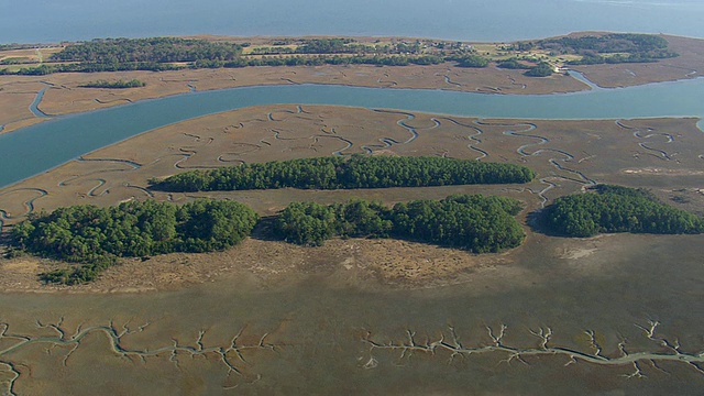
[[[53,61],[99,64],[232,61],[242,47],[233,43],[176,37],[98,38],[66,46]]]

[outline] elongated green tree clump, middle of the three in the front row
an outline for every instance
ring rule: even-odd
[[[292,204],[277,218],[274,232],[302,245],[321,245],[332,237],[392,237],[475,253],[498,252],[522,242],[524,231],[514,218],[521,208],[512,198],[481,195],[417,200],[392,209],[364,200]]]

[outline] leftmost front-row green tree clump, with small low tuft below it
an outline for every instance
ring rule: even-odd
[[[118,207],[74,206],[31,216],[13,227],[14,245],[57,260],[82,263],[43,275],[47,282],[92,280],[122,256],[208,252],[230,248],[257,221],[249,207],[231,201],[196,200],[177,207],[147,200]]]

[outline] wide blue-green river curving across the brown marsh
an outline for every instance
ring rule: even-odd
[[[189,92],[57,117],[0,135],[0,187],[175,122],[260,105],[334,105],[480,118],[629,119],[704,116],[704,79],[561,95],[485,95],[348,86],[262,86]]]

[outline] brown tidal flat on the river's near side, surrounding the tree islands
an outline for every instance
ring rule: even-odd
[[[0,258],[0,394],[695,395],[704,386],[702,237],[553,238],[526,218],[592,183],[648,187],[704,211],[695,122],[267,106],[96,151],[1,189],[6,226],[41,209],[128,199],[234,199],[266,216],[296,200],[481,193],[526,202],[527,240],[474,255],[394,240],[308,249],[255,234],[226,252],[122,260],[72,287],[36,280],[64,264]],[[525,164],[538,178],[332,191],[147,186],[188,169],[365,152]]]

